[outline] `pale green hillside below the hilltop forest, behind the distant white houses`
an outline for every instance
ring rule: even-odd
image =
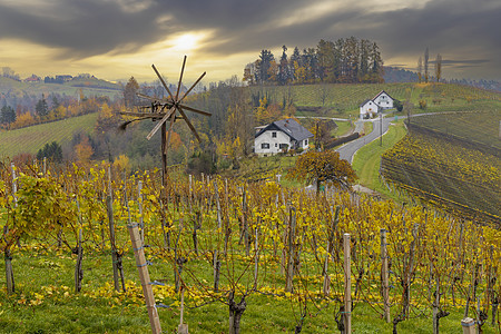
[[[393,98],[404,101],[410,98],[413,114],[450,110],[489,110],[501,108],[501,94],[452,84],[366,84],[366,85],[307,85],[250,87],[252,95],[267,96],[269,100],[293,102],[297,116],[356,117],[358,105],[385,90]],[[419,101],[426,101],[420,109]],[[312,107],[321,108],[311,111]]]

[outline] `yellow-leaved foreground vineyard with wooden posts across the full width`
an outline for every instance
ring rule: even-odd
[[[183,315],[196,333],[450,333],[465,316],[501,330],[501,233],[487,226],[333,187],[0,166],[8,332],[147,332],[132,250],[168,332]]]

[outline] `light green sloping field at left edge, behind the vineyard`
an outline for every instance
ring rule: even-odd
[[[18,130],[0,131],[0,157],[13,157],[20,153],[37,154],[47,143],[62,145],[77,131],[90,132],[97,114],[88,114],[59,121],[41,124]]]

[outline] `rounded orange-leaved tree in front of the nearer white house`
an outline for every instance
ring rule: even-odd
[[[357,178],[355,170],[346,160],[340,159],[340,154],[333,150],[308,150],[301,155],[296,165],[288,170],[286,178],[316,183],[316,191],[323,181],[332,181],[341,188],[348,188]]]

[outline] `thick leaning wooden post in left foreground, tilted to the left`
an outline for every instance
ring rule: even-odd
[[[149,273],[145,257],[145,248],[139,235],[138,224],[128,224],[127,228],[129,230],[130,242],[132,243],[134,257],[136,258],[136,266],[139,272],[139,279],[141,281],[146,307],[148,308],[151,333],[159,334],[161,333],[160,320],[158,317],[157,307],[155,306],[155,296],[151,288],[151,281],[149,279]]]

